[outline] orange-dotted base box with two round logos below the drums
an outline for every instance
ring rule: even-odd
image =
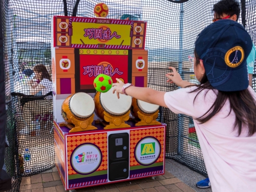
[[[165,125],[68,133],[54,123],[56,166],[65,190],[164,174]]]

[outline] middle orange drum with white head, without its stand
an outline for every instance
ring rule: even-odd
[[[131,106],[131,97],[120,94],[118,99],[117,95],[113,94],[113,88],[106,93],[97,92],[94,101],[95,113],[101,120],[104,120],[104,111],[112,117],[118,117],[126,114]]]

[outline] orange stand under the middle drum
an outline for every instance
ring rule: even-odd
[[[129,120],[130,111],[121,116],[111,116],[105,111],[103,113],[105,122],[100,121],[100,123],[105,126],[104,129],[130,128],[130,126],[125,123],[125,121]],[[109,122],[109,124],[107,122]]]

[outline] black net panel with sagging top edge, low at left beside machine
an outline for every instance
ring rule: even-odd
[[[30,176],[54,167],[52,92],[12,93],[18,137],[19,172]]]

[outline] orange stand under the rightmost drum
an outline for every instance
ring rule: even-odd
[[[160,122],[156,121],[158,118],[159,110],[157,110],[153,114],[142,114],[138,111],[138,116],[141,121],[138,121],[135,126],[153,126],[153,125],[161,125]]]

